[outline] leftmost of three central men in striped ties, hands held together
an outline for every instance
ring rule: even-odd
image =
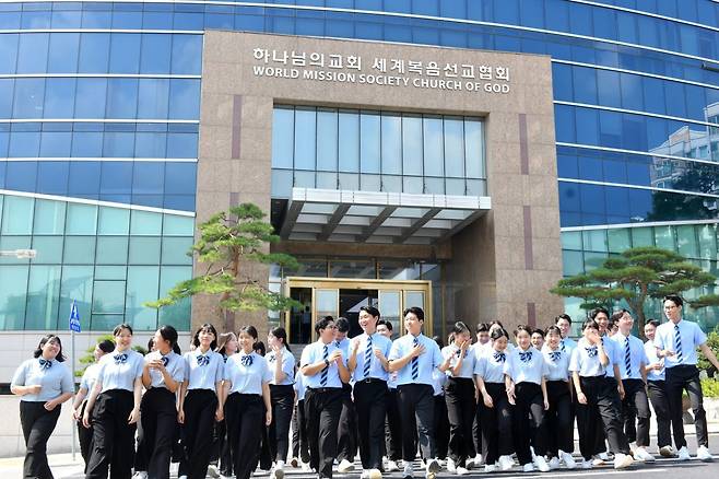
[[[342,412],[342,384],[350,382],[346,358],[334,343],[335,328],[331,317],[318,320],[315,331],[319,339],[305,347],[299,361],[306,385],[305,412],[310,467],[320,478],[332,477]]]

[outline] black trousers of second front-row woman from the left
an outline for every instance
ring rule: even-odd
[[[93,448],[86,479],[129,479],[132,476],[135,424],[128,424],[134,407],[131,392],[111,389],[97,396],[92,410]]]

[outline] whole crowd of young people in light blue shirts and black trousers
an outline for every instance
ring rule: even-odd
[[[179,440],[180,477],[204,478],[219,459],[217,472],[225,477],[248,479],[259,463],[282,479],[291,424],[292,464],[299,456],[320,479],[332,477],[335,460],[339,472],[353,470],[357,448],[362,479],[400,470],[400,459],[402,477],[412,478],[417,448],[431,479],[444,459],[457,475],[482,462],[486,472],[509,470],[512,455],[524,471],[562,463],[575,468],[575,417],[581,467],[606,460],[609,452],[614,467],[625,468],[655,459],[648,399],[659,454],[675,454],[673,432],[679,458],[688,459],[683,390],[695,417],[697,457],[711,460],[697,349],[718,369],[719,361],[702,329],[682,318],[682,306],[681,297],[667,296],[669,322],[647,324],[646,343],[632,336],[628,312],[610,316],[597,308],[577,342],[568,338],[571,319],[561,315],[544,331],[517,327],[514,344],[499,322],[479,325],[475,342],[457,322],[447,347],[422,334],[419,307],[403,312],[406,334],[392,341],[392,324],[363,306],[362,335],[347,338],[344,318],[321,318],[317,341],[304,348],[298,363],[283,328],[270,331],[262,355],[255,327],[219,336],[205,324],[181,354],[177,331],[163,326],[143,357],[131,349],[132,328],[119,325],[114,343],[97,344],[97,362],[86,370],[73,405],[86,478],[107,478],[109,471],[127,479],[133,468],[138,478],[168,478]],[[60,339],[48,335],[12,379],[12,392],[21,396],[25,478],[52,477],[47,440],[59,405],[74,393],[62,361]]]

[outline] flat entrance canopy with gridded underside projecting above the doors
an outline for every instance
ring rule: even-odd
[[[491,209],[490,197],[293,188],[283,240],[429,245]]]

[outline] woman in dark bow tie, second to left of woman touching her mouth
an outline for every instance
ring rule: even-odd
[[[534,465],[542,472],[550,470],[543,454],[545,434],[541,431],[544,411],[550,408],[546,397],[547,367],[542,353],[531,344],[532,328],[520,325],[515,330],[517,348],[507,355],[505,377],[509,402],[515,405],[515,445],[517,460],[524,472],[534,470],[530,445],[537,456]]]

